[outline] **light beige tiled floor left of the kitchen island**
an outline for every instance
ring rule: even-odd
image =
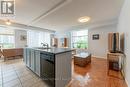
[[[33,74],[22,59],[0,62],[0,87],[48,87]]]

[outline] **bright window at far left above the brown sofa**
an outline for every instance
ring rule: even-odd
[[[14,48],[14,31],[0,28],[0,46],[2,48]]]

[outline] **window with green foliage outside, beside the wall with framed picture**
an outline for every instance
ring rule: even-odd
[[[71,38],[72,48],[88,48],[88,30],[73,31]]]

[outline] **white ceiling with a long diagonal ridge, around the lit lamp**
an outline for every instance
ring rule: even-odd
[[[13,22],[31,26],[62,30],[83,25],[77,22],[90,16],[91,23],[116,19],[123,0],[15,0],[16,15]],[[0,19],[4,19],[0,17]]]

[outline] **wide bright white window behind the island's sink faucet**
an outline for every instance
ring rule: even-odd
[[[50,46],[50,33],[40,31],[27,32],[27,44],[29,47],[41,47],[41,43],[48,43]]]

